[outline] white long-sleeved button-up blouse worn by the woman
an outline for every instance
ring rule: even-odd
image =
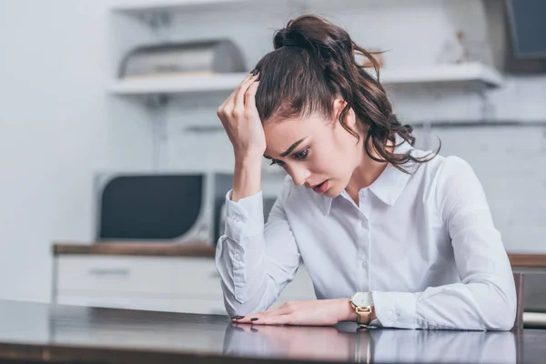
[[[396,153],[410,149],[428,154]],[[216,254],[227,312],[269,308],[303,261],[319,299],[371,291],[383,327],[511,329],[511,265],[472,168],[441,156],[404,167],[386,167],[359,205],[287,177],[265,227],[261,192],[233,202],[229,191]]]

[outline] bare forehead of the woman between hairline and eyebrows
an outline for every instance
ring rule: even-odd
[[[268,122],[264,125],[267,143],[264,154],[269,157],[279,157],[298,140],[308,137],[317,138],[328,131],[328,121],[320,116]]]

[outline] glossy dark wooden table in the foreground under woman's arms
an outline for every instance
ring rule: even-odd
[[[0,301],[2,362],[534,363],[545,343],[546,330],[234,326],[225,316]]]

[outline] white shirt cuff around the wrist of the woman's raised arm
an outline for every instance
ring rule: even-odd
[[[226,235],[237,242],[244,238],[263,234],[264,201],[262,192],[241,198],[238,202],[231,200],[231,192],[226,195]]]

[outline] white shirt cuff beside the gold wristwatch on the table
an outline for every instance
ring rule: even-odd
[[[417,329],[418,293],[371,292],[376,316],[384,328]]]

